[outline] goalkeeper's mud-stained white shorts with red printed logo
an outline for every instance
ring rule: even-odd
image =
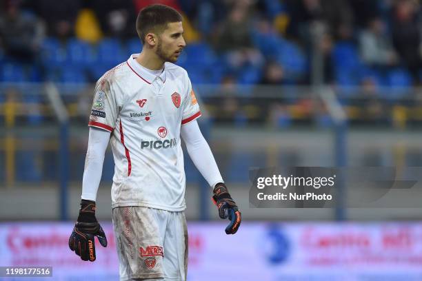
[[[188,228],[183,211],[116,207],[112,221],[121,281],[186,280]]]

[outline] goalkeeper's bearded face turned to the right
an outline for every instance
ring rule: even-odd
[[[167,28],[158,36],[156,54],[163,61],[175,63],[185,45],[181,21],[168,23]]]

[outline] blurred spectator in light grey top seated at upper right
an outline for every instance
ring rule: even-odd
[[[359,36],[359,48],[363,61],[377,69],[384,69],[397,62],[390,38],[385,34],[385,24],[374,18]]]

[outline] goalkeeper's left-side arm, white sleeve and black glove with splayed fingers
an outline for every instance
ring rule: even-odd
[[[110,132],[90,127],[79,216],[69,238],[70,249],[82,260],[90,260],[91,262],[96,259],[94,236],[97,236],[101,246],[107,247],[106,233],[95,218],[95,199],[97,198],[103,171],[104,154],[109,140]]]

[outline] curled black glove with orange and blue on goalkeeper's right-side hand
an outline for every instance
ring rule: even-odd
[[[220,218],[228,218],[230,224],[225,228],[226,234],[234,234],[241,224],[242,216],[239,208],[228,193],[227,187],[224,183],[217,183],[214,187],[214,196],[212,196],[214,203],[219,208]]]

